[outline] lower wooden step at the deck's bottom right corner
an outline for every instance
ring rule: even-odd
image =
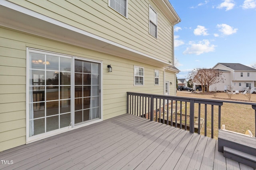
[[[230,158],[242,164],[256,168],[256,156],[241,152],[239,150],[231,149],[229,147],[223,147],[223,156]]]

